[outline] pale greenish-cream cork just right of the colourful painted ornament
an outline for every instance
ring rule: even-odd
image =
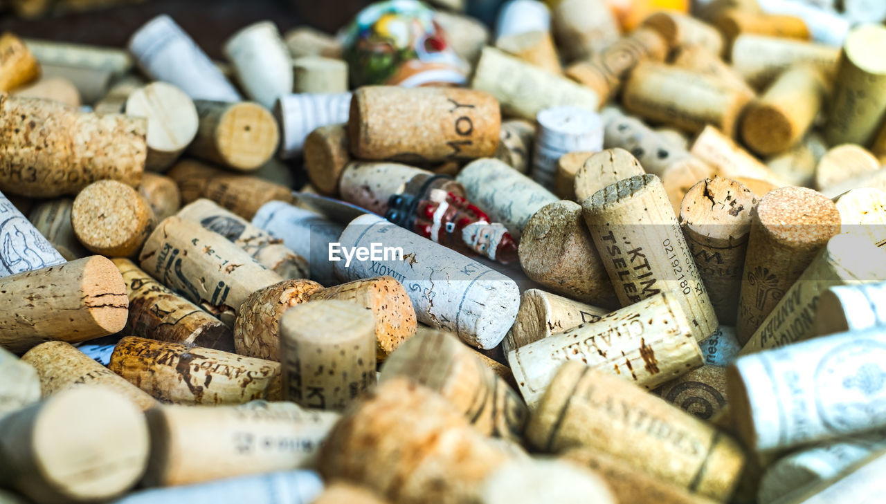
[[[480,54],[470,87],[498,99],[501,113],[534,120],[542,110],[571,105],[595,111],[601,95],[560,75],[486,47]]]

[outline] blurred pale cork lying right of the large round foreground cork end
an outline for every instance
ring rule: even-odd
[[[311,468],[338,421],[337,413],[301,409],[291,402],[247,406],[167,405],[150,410],[152,456],[145,485],[191,485]]]

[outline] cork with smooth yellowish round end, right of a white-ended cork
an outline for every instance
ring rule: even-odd
[[[258,103],[198,100],[199,127],[188,152],[241,172],[253,172],[274,156],[280,130]]]

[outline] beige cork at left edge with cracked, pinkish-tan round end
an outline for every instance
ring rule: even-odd
[[[0,278],[0,346],[24,352],[45,340],[72,343],[123,329],[128,301],[120,271],[102,256]]]

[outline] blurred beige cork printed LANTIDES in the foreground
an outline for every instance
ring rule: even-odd
[[[575,362],[557,372],[526,433],[533,447],[594,448],[712,500],[727,499],[744,463],[727,434],[624,378]]]

